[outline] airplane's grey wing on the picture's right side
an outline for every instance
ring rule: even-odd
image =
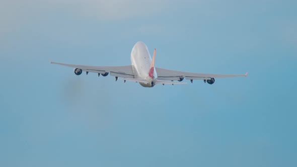
[[[194,72],[184,72],[184,71],[176,71],[164,68],[156,68],[156,72],[158,74],[159,80],[183,80],[190,79],[202,79],[202,80],[210,80],[211,78],[218,78],[218,77],[235,77],[235,76],[247,76],[246,74],[242,75],[234,75],[234,74],[209,74],[209,73],[194,73]]]

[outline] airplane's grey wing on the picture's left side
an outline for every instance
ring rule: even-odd
[[[63,66],[68,66],[75,68],[75,73],[81,74],[82,71],[88,72],[95,72],[100,75],[106,76],[108,73],[112,76],[116,77],[123,77],[123,78],[134,78],[133,68],[132,65],[125,65],[125,66],[89,66],[89,65],[76,65],[76,64],[65,64],[59,62],[52,62],[51,64],[58,64]],[[76,71],[77,70],[77,71]]]

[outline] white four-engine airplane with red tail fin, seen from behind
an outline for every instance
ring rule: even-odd
[[[59,62],[50,61],[51,64],[64,65],[72,67],[76,75],[80,75],[83,71],[88,75],[89,72],[98,73],[102,76],[107,76],[109,73],[115,77],[115,81],[118,78],[128,81],[138,82],[142,87],[152,88],[158,84],[187,84],[187,82],[181,82],[184,78],[189,79],[193,83],[194,79],[203,80],[204,83],[212,85],[214,78],[222,77],[235,77],[235,76],[247,76],[246,74],[234,75],[234,74],[207,74],[207,73],[194,73],[176,71],[170,69],[164,69],[155,67],[156,49],[154,50],[153,59],[146,45],[138,41],[131,51],[131,65],[125,66],[89,66],[89,65],[75,65],[64,64]],[[174,81],[176,80],[176,81]]]

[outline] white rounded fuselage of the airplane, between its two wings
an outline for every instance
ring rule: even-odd
[[[139,82],[143,87],[154,87],[157,80],[157,73],[154,67],[153,78],[149,76],[152,65],[150,52],[143,42],[137,42],[131,51],[131,63],[133,66],[134,75],[139,79],[145,79],[147,83]]]

